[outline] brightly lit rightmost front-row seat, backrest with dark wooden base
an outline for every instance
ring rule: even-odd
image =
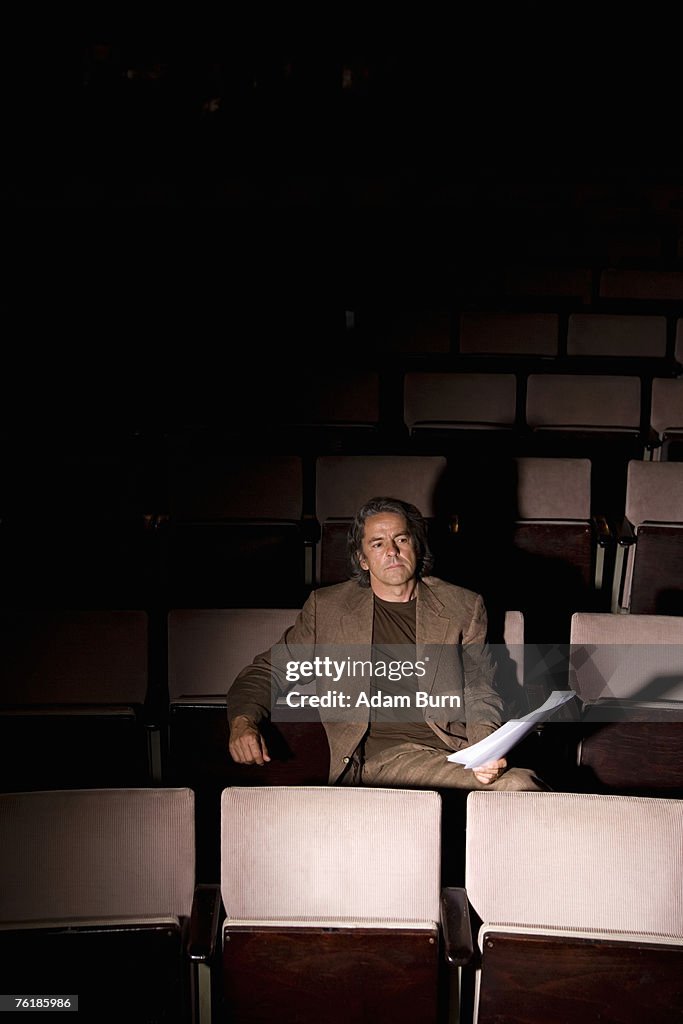
[[[471,793],[461,1020],[676,1020],[682,843],[680,800]]]

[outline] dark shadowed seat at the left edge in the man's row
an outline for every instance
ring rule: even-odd
[[[2,790],[159,779],[147,612],[5,609],[0,627]]]

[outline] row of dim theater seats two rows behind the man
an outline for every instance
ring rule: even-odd
[[[680,457],[680,374],[679,364],[657,372],[633,359],[618,369],[611,360],[579,370],[543,359],[522,369],[493,357],[398,371],[283,371],[264,408],[242,410],[236,396],[240,415],[229,429],[220,421],[214,429],[233,445],[307,455],[426,444],[443,451],[496,444],[531,455],[547,446],[549,431],[591,431],[612,444],[629,441],[634,458],[667,459]],[[557,433],[550,439],[559,442]]]

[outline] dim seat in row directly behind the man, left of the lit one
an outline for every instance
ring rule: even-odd
[[[306,588],[303,459],[177,445],[158,527],[166,607],[300,605]]]

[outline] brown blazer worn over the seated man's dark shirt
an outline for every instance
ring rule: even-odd
[[[416,609],[417,652],[428,653],[427,675],[420,688],[430,694],[456,694],[461,711],[429,709],[425,720],[452,750],[487,736],[502,722],[503,701],[494,689],[495,668],[486,645],[486,610],[480,595],[462,587],[425,577],[418,583]],[[349,581],[313,591],[294,625],[279,641],[295,646],[297,656],[307,645],[353,645],[367,648],[373,635],[373,592]],[[299,647],[298,645],[303,645]],[[281,648],[282,651],[282,648]],[[270,715],[272,648],[257,654],[240,672],[227,691],[227,716],[246,715],[255,724]],[[324,721],[330,743],[330,782],[344,771],[360,742],[367,723]]]

